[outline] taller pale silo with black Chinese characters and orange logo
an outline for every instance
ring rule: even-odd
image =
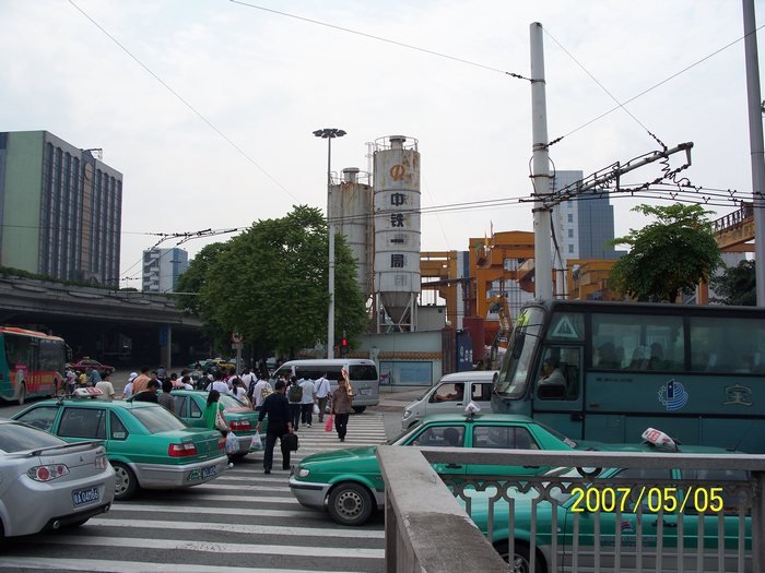
[[[421,235],[417,140],[390,135],[375,141],[374,166],[377,332],[416,331]]]

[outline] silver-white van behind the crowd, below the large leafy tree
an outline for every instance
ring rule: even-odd
[[[279,370],[270,377],[271,386],[276,383],[279,377],[287,374],[298,379],[306,378],[318,380],[325,373],[332,392],[338,387],[340,369],[348,370],[351,387],[353,389],[353,410],[361,414],[367,406],[377,406],[380,402],[380,378],[377,374],[377,366],[372,360],[358,358],[333,358],[316,360],[290,360],[284,362]]]

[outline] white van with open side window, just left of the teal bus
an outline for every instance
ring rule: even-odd
[[[494,374],[494,370],[446,374],[423,397],[404,408],[401,428],[408,430],[432,414],[461,414],[470,402],[483,411],[491,411]]]

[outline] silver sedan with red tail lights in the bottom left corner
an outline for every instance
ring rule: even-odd
[[[0,539],[79,526],[109,510],[115,471],[102,442],[0,419]]]

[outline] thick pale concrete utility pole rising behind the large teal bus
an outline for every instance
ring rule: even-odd
[[[531,181],[534,194],[534,297],[553,296],[550,199],[550,159],[548,155],[548,103],[544,87],[544,44],[542,24],[530,26],[531,39],[531,138],[533,158]]]

